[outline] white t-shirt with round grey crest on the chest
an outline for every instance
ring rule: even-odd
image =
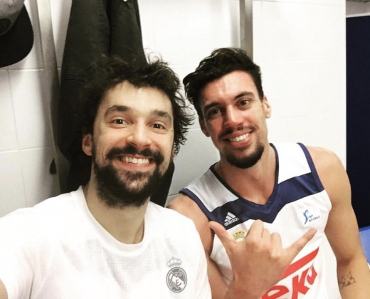
[[[211,298],[193,222],[149,203],[140,243],[113,238],[80,187],[0,219],[0,280],[13,298]]]

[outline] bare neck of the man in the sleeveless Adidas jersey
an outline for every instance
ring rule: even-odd
[[[249,168],[238,168],[222,159],[216,164],[217,174],[244,199],[265,204],[275,186],[275,151],[267,145],[260,160]]]

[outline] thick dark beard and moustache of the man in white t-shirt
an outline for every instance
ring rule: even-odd
[[[127,172],[116,169],[112,162],[119,159],[120,154],[139,154],[148,157],[156,164],[154,172]],[[136,147],[112,148],[106,155],[108,164],[99,165],[96,160],[95,147],[93,147],[93,172],[97,183],[97,194],[100,199],[112,208],[125,208],[127,206],[142,206],[159,186],[164,171],[160,166],[164,161],[161,152],[145,149],[141,152]]]

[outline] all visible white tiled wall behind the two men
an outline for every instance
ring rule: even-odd
[[[49,107],[44,103],[38,0],[26,0],[35,32],[23,61],[0,69],[0,216],[58,193]],[[60,68],[72,0],[49,0]],[[270,141],[328,147],[345,162],[345,1],[253,1],[254,59],[273,105]],[[214,48],[239,46],[239,0],[139,0],[146,53],[184,76]],[[216,162],[196,122],[175,158],[170,197]]]

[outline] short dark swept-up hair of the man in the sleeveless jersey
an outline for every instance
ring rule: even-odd
[[[199,103],[203,88],[233,70],[243,70],[253,78],[258,95],[262,100],[263,88],[260,67],[253,63],[247,53],[240,48],[218,48],[210,56],[204,58],[196,70],[186,75],[183,80],[186,96],[194,105],[199,117],[203,118]]]

